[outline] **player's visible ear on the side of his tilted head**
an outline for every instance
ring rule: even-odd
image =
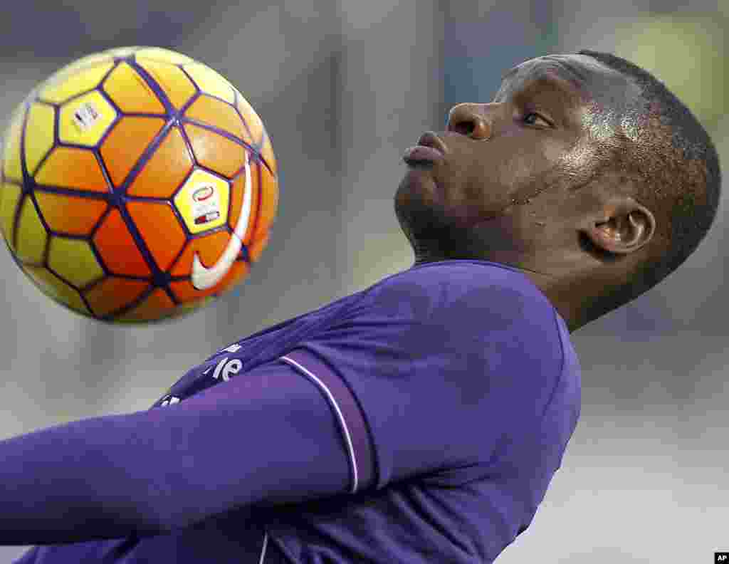
[[[601,216],[590,220],[582,232],[599,249],[627,255],[653,238],[655,217],[646,206],[625,196],[605,206]]]

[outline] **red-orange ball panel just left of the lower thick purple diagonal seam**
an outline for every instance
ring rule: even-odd
[[[93,236],[101,260],[114,274],[152,276],[152,271],[124,223],[118,209],[112,209]]]

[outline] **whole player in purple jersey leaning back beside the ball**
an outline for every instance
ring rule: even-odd
[[[658,80],[592,51],[521,63],[446,129],[405,153],[410,269],[148,411],[0,442],[19,563],[491,563],[526,530],[580,413],[569,333],[693,252],[719,163]]]

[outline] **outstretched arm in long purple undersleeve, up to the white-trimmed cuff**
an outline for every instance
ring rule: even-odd
[[[340,417],[361,415],[327,388],[278,360],[174,405],[0,441],[0,544],[151,536],[351,491]]]

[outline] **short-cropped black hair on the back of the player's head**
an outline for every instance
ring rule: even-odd
[[[633,125],[646,134],[637,141],[623,136],[611,160],[621,171],[641,179],[636,201],[656,213],[657,231],[662,224],[668,241],[666,250],[634,273],[630,287],[612,295],[612,306],[604,308],[607,312],[658,284],[694,252],[717,215],[722,179],[719,155],[706,129],[663,82],[611,53],[577,54],[620,72],[641,92],[642,115],[628,119],[639,120]]]

